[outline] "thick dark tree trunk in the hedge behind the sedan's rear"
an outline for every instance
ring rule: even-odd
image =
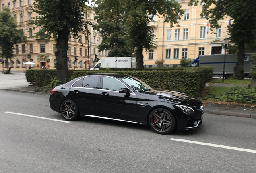
[[[61,83],[64,83],[64,77],[68,74],[68,36],[69,31],[67,26],[64,26],[62,30],[58,31],[55,52],[57,62],[55,64],[55,67],[57,69],[56,80],[61,81]]]

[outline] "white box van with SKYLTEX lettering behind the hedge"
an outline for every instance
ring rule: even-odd
[[[90,70],[99,70],[103,68],[135,68],[136,58],[135,57],[103,57],[97,64]]]

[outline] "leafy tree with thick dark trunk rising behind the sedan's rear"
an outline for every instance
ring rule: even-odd
[[[88,22],[84,20],[81,12],[87,8],[87,0],[35,0],[33,12],[39,14],[31,24],[43,29],[36,33],[39,36],[46,32],[45,37],[53,35],[56,39],[56,80],[64,82],[64,76],[68,74],[67,52],[68,38],[73,35],[79,38],[79,33],[89,32]]]

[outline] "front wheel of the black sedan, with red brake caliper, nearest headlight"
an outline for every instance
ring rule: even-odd
[[[149,115],[149,126],[156,133],[166,135],[175,129],[175,117],[167,109],[157,108]]]

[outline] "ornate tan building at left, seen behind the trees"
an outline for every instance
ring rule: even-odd
[[[44,34],[41,34],[39,38],[35,38],[35,32],[38,32],[41,27],[35,28],[33,30],[33,25],[27,24],[26,21],[31,20],[37,14],[32,12],[31,6],[33,6],[34,0],[0,0],[0,10],[2,7],[7,6],[10,9],[12,16],[17,22],[17,28],[23,29],[24,35],[27,36],[27,43],[21,43],[15,45],[14,55],[16,56],[11,62],[9,62],[9,67],[12,68],[14,72],[24,72],[28,69],[29,65],[23,65],[24,62],[30,61],[34,62],[34,65],[31,65],[31,69],[41,69],[46,67],[47,69],[54,69],[54,63],[56,62],[56,57],[54,52],[56,50],[55,44],[50,39],[44,38]],[[90,9],[90,12],[85,15],[85,20],[95,23],[94,20],[95,12]],[[43,26],[42,26],[43,27]],[[68,68],[69,69],[87,69],[89,68],[88,64],[88,49],[90,55],[90,66],[93,66],[95,54],[99,54],[97,58],[101,58],[107,55],[107,52],[98,52],[97,46],[101,42],[101,36],[99,33],[96,33],[93,28],[90,26],[89,31],[92,33],[89,36],[89,44],[86,40],[87,34],[81,33],[80,39],[82,40],[83,46],[81,46],[78,39],[74,39],[72,36],[68,41]],[[77,62],[74,61],[74,56],[78,56]],[[2,59],[2,58],[1,58]],[[50,60],[47,63],[47,60]],[[6,61],[5,59],[3,59]],[[1,65],[2,67],[2,65]],[[6,70],[8,65],[4,63],[3,70]],[[0,69],[2,70],[2,69]]]

